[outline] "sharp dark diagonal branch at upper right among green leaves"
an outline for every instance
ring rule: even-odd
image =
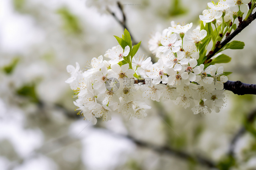
[[[229,36],[226,37],[226,39],[224,39],[223,42],[221,42],[219,45],[216,46],[216,48],[213,51],[210,51],[207,54],[207,59],[206,59],[206,63],[207,61],[209,61],[209,59],[211,57],[213,57],[213,55],[215,55],[222,47],[224,47],[228,42],[231,41],[231,39],[233,39],[238,33],[240,33],[245,27],[247,27],[253,20],[255,20],[256,18],[256,12],[252,15],[249,16],[249,18],[246,21],[242,21],[241,23],[239,23],[238,27],[235,29],[235,31],[230,34]]]

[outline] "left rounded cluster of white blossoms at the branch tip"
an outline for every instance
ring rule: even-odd
[[[96,117],[103,117],[103,121],[111,120],[110,112],[120,112],[128,118],[146,116],[146,109],[151,107],[138,95],[139,86],[135,86],[138,80],[133,76],[134,70],[129,69],[128,63],[118,65],[128,53],[129,46],[123,52],[122,47],[118,45],[104,55],[111,60],[103,60],[102,55],[93,58],[91,68],[85,72],[80,70],[78,63],[76,68],[72,65],[67,66],[71,77],[66,83],[69,83],[76,93],[78,99],[74,104],[85,120],[90,120],[93,124],[97,122]],[[140,61],[139,59],[138,62]],[[141,64],[143,63],[144,60],[141,61]]]

